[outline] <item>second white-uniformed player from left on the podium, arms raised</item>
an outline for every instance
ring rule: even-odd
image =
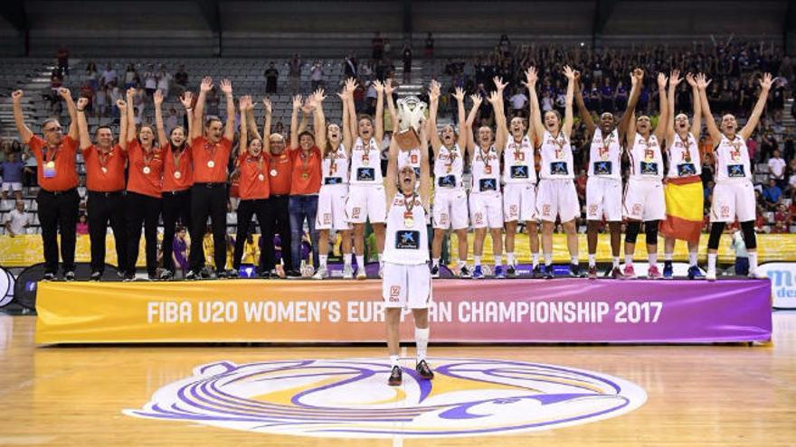
[[[365,279],[365,220],[370,219],[379,253],[379,271],[384,266],[384,181],[381,169],[381,142],[384,139],[384,84],[374,81],[376,115],[356,115],[354,101],[348,101],[351,135],[356,135],[351,149],[351,179],[346,201],[346,216],[354,226],[356,279]]]

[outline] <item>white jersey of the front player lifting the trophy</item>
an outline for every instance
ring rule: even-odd
[[[426,211],[417,194],[395,194],[387,211],[384,235],[384,261],[393,264],[421,265],[429,261]]]

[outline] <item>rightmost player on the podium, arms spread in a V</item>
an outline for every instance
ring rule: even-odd
[[[707,240],[707,275],[708,281],[715,281],[715,256],[718,251],[719,239],[727,222],[735,219],[741,223],[746,251],[749,252],[749,277],[759,277],[757,271],[757,237],[754,234],[755,202],[752,184],[752,165],[746,140],[752,135],[754,128],[763,115],[768,92],[772,88],[771,73],[765,73],[760,80],[760,97],[754,105],[752,114],[746,125],[736,132],[738,123],[735,116],[722,116],[721,129],[715,126],[710,105],[707,102],[706,88],[710,80],[704,74],[696,77],[699,88],[699,99],[702,102],[702,115],[705,116],[707,132],[715,147],[715,188],[713,203],[710,207],[710,237]]]

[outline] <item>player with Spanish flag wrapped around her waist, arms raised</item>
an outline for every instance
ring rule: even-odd
[[[668,172],[666,175],[665,196],[667,219],[660,226],[664,235],[664,279],[672,279],[672,259],[675,240],[682,238],[688,245],[688,279],[704,277],[696,265],[696,251],[699,248],[699,234],[702,232],[705,192],[702,189],[702,161],[696,145],[702,133],[702,105],[696,79],[686,76],[691,86],[694,105],[694,122],[688,123],[684,113],[675,114],[675,89],[669,78],[668,122],[666,130]],[[682,213],[692,219],[682,219]]]

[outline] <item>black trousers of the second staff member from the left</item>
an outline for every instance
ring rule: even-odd
[[[89,191],[89,202],[86,205],[89,213],[89,237],[91,241],[91,272],[105,272],[105,240],[108,235],[108,223],[113,228],[116,242],[116,258],[118,271],[128,271],[128,235],[125,225],[124,191],[95,192]]]

